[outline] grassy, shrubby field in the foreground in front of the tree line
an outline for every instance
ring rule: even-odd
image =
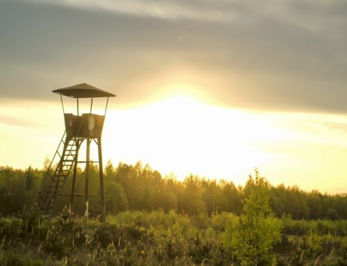
[[[0,265],[238,265],[231,213],[125,211],[99,219],[33,210],[0,218]],[[347,221],[278,219],[267,265],[346,265]]]

